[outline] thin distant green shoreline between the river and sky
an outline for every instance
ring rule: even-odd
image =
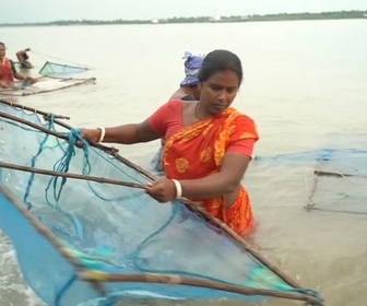
[[[113,20],[113,21],[52,21],[42,23],[0,23],[0,26],[49,26],[49,25],[108,25],[108,24],[177,24],[177,23],[229,23],[229,22],[263,22],[263,21],[300,21],[300,20],[341,20],[367,19],[366,11],[341,11],[322,13],[236,15],[236,16],[200,16],[171,17],[153,20]]]

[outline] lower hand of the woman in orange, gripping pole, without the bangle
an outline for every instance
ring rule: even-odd
[[[176,186],[169,178],[157,178],[146,185],[146,193],[161,203],[169,202],[176,198]]]

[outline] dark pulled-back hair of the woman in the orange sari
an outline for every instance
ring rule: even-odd
[[[209,80],[214,73],[232,70],[238,76],[239,83],[242,82],[244,72],[241,61],[238,56],[228,50],[214,50],[208,54],[199,71],[199,82]]]

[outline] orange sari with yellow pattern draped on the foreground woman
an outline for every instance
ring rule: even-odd
[[[163,153],[165,174],[168,178],[194,179],[218,173],[228,144],[246,138],[258,140],[256,126],[232,107],[216,117],[186,126],[166,141]],[[209,213],[241,236],[254,227],[251,202],[244,186],[229,209],[224,205],[224,196],[190,200],[203,203]]]

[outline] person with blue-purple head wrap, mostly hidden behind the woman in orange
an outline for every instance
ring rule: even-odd
[[[199,89],[199,70],[202,61],[204,60],[204,55],[194,55],[192,52],[186,51],[185,59],[185,79],[179,85],[179,89],[169,97],[169,99],[185,99],[185,101],[198,101],[200,97]],[[151,161],[151,168],[157,175],[163,175],[162,165],[162,154],[165,140],[161,140],[161,148],[154,154]]]

